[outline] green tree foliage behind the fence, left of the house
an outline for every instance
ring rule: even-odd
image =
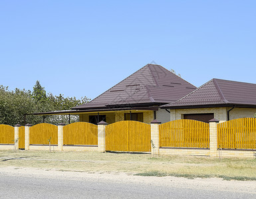
[[[63,94],[54,96],[46,94],[45,88],[37,81],[30,90],[9,90],[8,87],[0,86],[0,123],[15,125],[17,123],[25,125],[24,115],[27,113],[39,113],[46,111],[57,111],[70,109],[76,105],[88,102],[89,99],[64,98]],[[77,121],[78,116],[72,116],[71,122]],[[45,122],[57,124],[68,123],[68,115],[50,115],[45,117]],[[33,125],[43,122],[42,115],[27,115],[26,123]]]

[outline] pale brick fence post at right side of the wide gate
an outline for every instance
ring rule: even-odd
[[[160,121],[157,121],[156,119],[153,120],[150,124],[151,129],[151,153],[152,154],[159,154],[159,125]],[[153,147],[154,145],[154,147]]]

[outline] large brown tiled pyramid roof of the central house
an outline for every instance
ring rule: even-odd
[[[164,104],[176,101],[195,89],[195,86],[166,68],[147,64],[94,100],[72,109]]]

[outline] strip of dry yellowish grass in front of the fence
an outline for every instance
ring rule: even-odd
[[[130,153],[0,151],[0,166],[23,166],[86,172],[127,172],[144,176],[222,177],[256,180],[256,159],[214,159]],[[6,159],[3,159],[6,158]],[[13,159],[17,158],[17,159]]]

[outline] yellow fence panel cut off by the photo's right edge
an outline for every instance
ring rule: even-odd
[[[256,119],[241,118],[217,125],[221,149],[256,149]]]

